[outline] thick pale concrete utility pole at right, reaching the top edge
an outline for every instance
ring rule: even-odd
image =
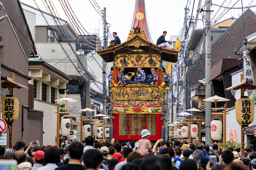
[[[212,96],[211,81],[211,4],[210,0],[205,0],[205,99]],[[211,101],[205,101],[205,144],[212,144],[211,121],[212,106]],[[224,129],[226,130],[226,129]]]

